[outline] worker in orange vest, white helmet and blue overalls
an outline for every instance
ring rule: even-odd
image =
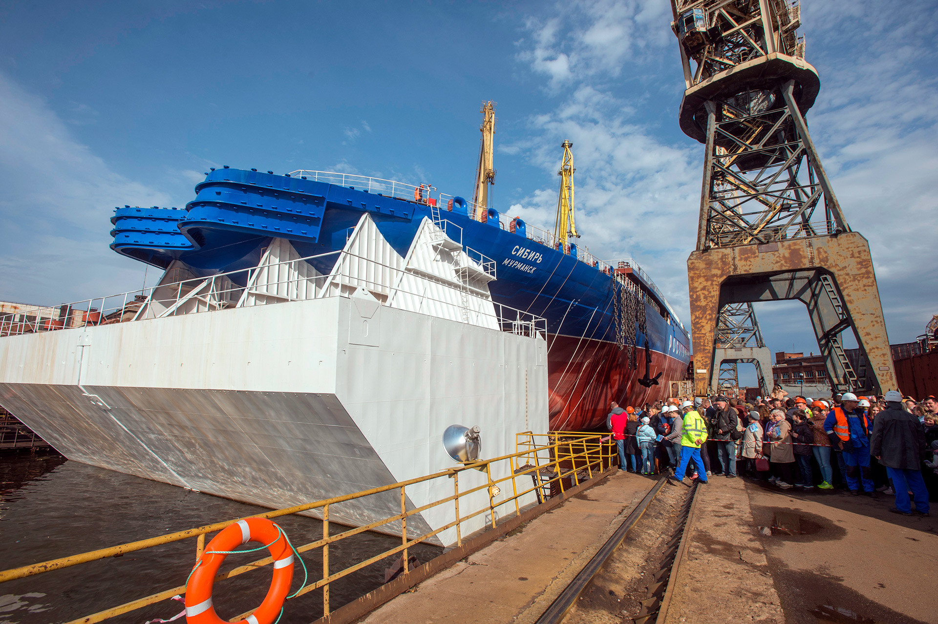
[[[843,455],[847,470],[847,487],[854,496],[859,495],[860,481],[864,494],[876,497],[870,473],[870,422],[866,413],[857,406],[856,394],[840,396],[840,406],[831,409],[824,422],[824,430],[834,449]],[[857,479],[857,473],[860,479]]]

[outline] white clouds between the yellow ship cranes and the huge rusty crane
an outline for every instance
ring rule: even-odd
[[[663,7],[663,8],[662,8]],[[645,90],[628,92],[610,82],[623,64],[643,64],[643,54],[673,52],[655,28],[670,36],[663,3],[595,2],[558,8],[561,17],[529,20],[518,58],[547,77],[559,97],[552,110],[528,120],[531,136],[501,149],[522,154],[547,174],[560,167],[560,143],[573,142],[580,244],[600,258],[633,256],[654,275],[678,314],[688,312],[687,253],[694,246],[699,202],[700,149],[672,145],[643,121]],[[566,24],[565,28],[561,24]],[[568,52],[569,72],[546,65]],[[674,80],[680,79],[674,64]],[[561,93],[562,87],[562,93]],[[676,124],[676,120],[675,120]],[[554,178],[557,179],[557,178]],[[531,193],[511,213],[552,230],[557,186]],[[688,323],[689,325],[689,323]]]

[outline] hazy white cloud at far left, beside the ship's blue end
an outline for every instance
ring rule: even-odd
[[[112,171],[2,74],[0,186],[0,299],[53,305],[142,283],[144,265],[108,247],[109,219],[114,206],[168,197]]]

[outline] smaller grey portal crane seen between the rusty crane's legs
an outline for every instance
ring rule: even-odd
[[[710,390],[719,392],[726,386],[738,388],[739,364],[755,365],[759,392],[763,396],[768,394],[770,378],[766,376],[772,371],[772,357],[765,347],[756,312],[748,302],[725,304],[720,308]]]

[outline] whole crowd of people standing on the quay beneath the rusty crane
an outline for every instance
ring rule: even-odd
[[[750,403],[674,397],[639,409],[613,403],[606,426],[620,468],[644,475],[683,483],[742,475],[781,489],[882,493],[895,496],[889,511],[904,515],[929,515],[929,499],[938,496],[934,396],[788,398],[776,388]]]

